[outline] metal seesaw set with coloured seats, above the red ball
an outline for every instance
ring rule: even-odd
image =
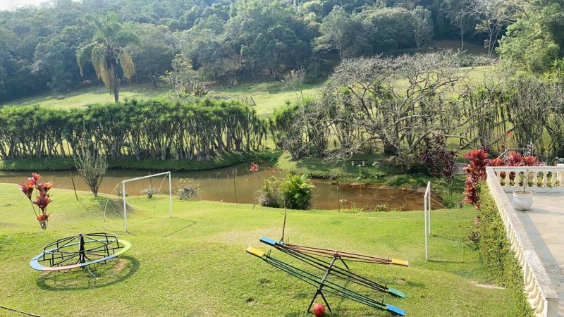
[[[272,257],[271,251],[268,251],[265,254],[263,251],[255,249],[253,247],[247,248],[247,253],[257,256],[259,259],[262,259],[266,263],[269,263],[271,266],[274,266],[275,268],[278,268],[281,271],[284,271],[294,276],[295,278],[298,278],[303,282],[306,282],[307,284],[317,288],[314,297],[312,298],[312,302],[310,302],[309,306],[307,307],[307,313],[309,313],[309,310],[312,308],[312,305],[314,304],[317,296],[321,296],[321,299],[323,299],[323,301],[325,302],[327,309],[329,309],[329,313],[331,313],[331,316],[333,316],[331,306],[329,305],[329,302],[327,302],[324,294],[328,293],[334,294],[338,297],[343,297],[345,299],[353,300],[354,302],[367,305],[374,309],[381,309],[398,316],[405,316],[405,311],[403,311],[403,309],[400,309],[391,304],[384,304],[384,300],[378,301],[376,299],[367,297],[360,292],[350,290],[350,288],[343,286],[339,282],[334,282],[332,277],[334,276],[340,280],[352,282],[356,285],[366,287],[369,290],[376,290],[385,294],[391,294],[394,297],[405,298],[405,294],[403,292],[400,292],[399,290],[387,287],[386,285],[381,285],[377,282],[364,278],[361,275],[351,272],[345,261],[408,266],[409,263],[407,263],[407,261],[396,259],[381,259],[374,256],[354,254],[345,251],[305,247],[295,244],[285,244],[283,242],[269,239],[268,237],[262,237],[260,239],[260,242],[274,247],[278,251],[290,255],[293,258],[302,261],[302,263],[307,263],[309,266],[317,268],[324,273],[322,276],[316,275],[314,273],[302,270],[301,268],[291,266],[286,262]],[[321,257],[331,258],[331,261],[320,259]],[[336,265],[336,261],[341,261],[345,267],[343,268]]]

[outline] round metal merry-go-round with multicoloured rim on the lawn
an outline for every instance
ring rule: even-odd
[[[47,244],[40,254],[31,259],[30,266],[44,272],[68,272],[73,268],[81,268],[97,279],[89,266],[106,263],[130,248],[129,242],[118,240],[116,235],[110,233],[78,234]]]

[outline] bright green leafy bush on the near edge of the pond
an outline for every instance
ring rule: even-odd
[[[280,184],[282,199],[289,209],[309,209],[314,185],[306,175],[286,175]]]

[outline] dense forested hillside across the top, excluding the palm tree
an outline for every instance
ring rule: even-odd
[[[557,0],[54,0],[0,11],[0,102],[97,82],[76,56],[101,25],[131,35],[113,43],[127,53],[116,57],[118,82],[158,85],[181,53],[192,77],[232,85],[290,70],[326,77],[343,58],[441,39],[484,45],[491,57],[505,33],[502,54],[546,70],[563,47],[561,15]]]

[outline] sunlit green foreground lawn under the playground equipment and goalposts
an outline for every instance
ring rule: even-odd
[[[80,192],[77,202],[73,192],[52,189],[53,213],[42,232],[16,185],[0,184],[0,192],[1,306],[42,316],[306,316],[314,289],[245,253],[248,246],[269,249],[258,241],[263,235],[280,237],[281,210],[175,199],[174,217],[168,218],[165,197],[130,197],[125,235],[120,201],[110,201],[104,222],[106,197]],[[410,261],[409,268],[350,263],[356,273],[405,292],[405,299],[384,301],[407,316],[515,316],[507,290],[474,286],[489,280],[478,251],[467,244],[475,215],[470,208],[434,211],[429,262],[420,211],[289,211],[286,237],[295,244]],[[95,267],[97,282],[84,271],[45,279],[28,264],[52,240],[100,231],[115,232],[133,247],[121,259]],[[304,267],[279,251],[272,256]],[[390,316],[328,299],[337,316]]]

